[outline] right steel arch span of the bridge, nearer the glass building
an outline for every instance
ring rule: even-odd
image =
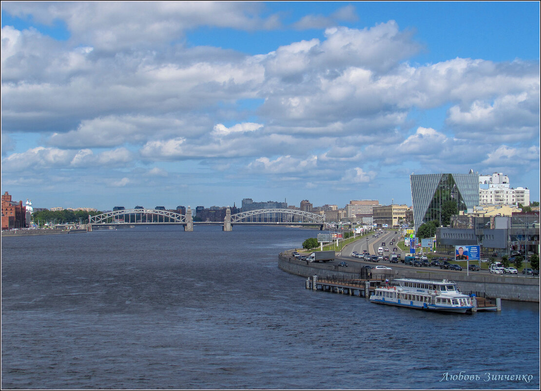
[[[325,216],[294,209],[258,209],[231,215],[231,223],[325,224]]]

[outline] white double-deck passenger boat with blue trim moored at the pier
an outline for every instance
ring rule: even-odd
[[[415,278],[397,278],[393,285],[381,286],[370,296],[370,301],[399,307],[447,312],[471,312],[473,301],[461,294],[457,284],[444,279],[428,281]]]

